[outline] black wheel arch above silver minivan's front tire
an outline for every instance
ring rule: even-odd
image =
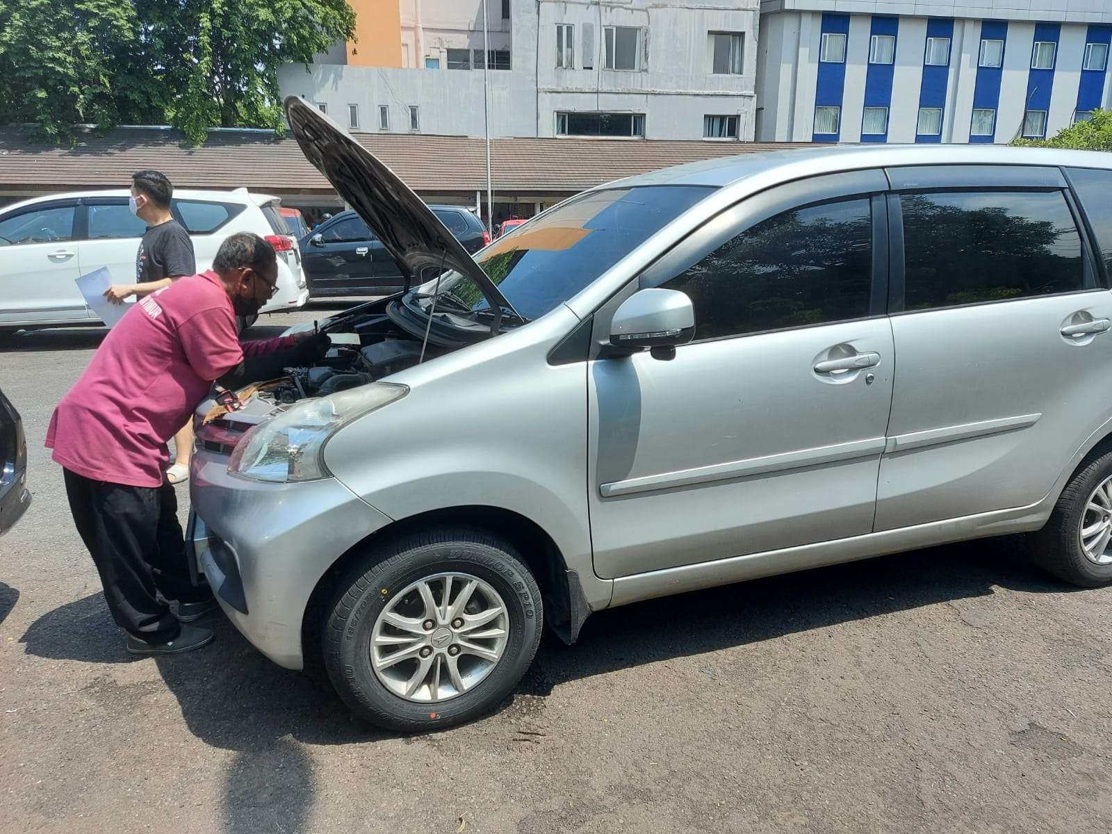
[[[545,623],[567,644],[578,637],[590,614],[578,574],[567,567],[559,547],[536,522],[503,507],[448,507],[401,518],[351,545],[317,580],[301,618],[301,651],[306,667],[319,667],[319,626],[336,586],[369,546],[429,526],[478,527],[503,536],[522,556],[540,586]],[[537,546],[537,543],[540,546]]]

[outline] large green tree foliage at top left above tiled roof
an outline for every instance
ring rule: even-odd
[[[281,132],[278,68],[354,32],[346,0],[0,0],[0,122]]]

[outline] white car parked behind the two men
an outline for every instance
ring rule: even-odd
[[[146,224],[127,189],[51,195],[0,209],[0,328],[97,324],[75,280],[107,267],[113,284],[136,282]],[[261,235],[278,251],[278,291],[260,312],[296,310],[309,297],[297,239],[269,195],[177,189],[170,210],[193,241],[198,271],[212,266],[237,231]]]

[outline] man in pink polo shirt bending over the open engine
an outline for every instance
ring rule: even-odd
[[[188,652],[212,639],[211,629],[188,625],[215,604],[211,590],[189,578],[165,475],[167,440],[215,380],[231,387],[271,378],[328,349],[328,337],[312,334],[240,345],[236,315],[258,312],[277,278],[266,240],[232,235],[211,270],[128,310],[50,418],[46,445],[64,468],[73,522],[132,654]],[[178,602],[177,616],[159,593]]]

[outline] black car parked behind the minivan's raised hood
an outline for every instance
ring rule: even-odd
[[[468,252],[490,242],[483,221],[461,206],[429,206]],[[405,277],[390,249],[355,211],[341,211],[301,239],[309,297],[397,292]]]

